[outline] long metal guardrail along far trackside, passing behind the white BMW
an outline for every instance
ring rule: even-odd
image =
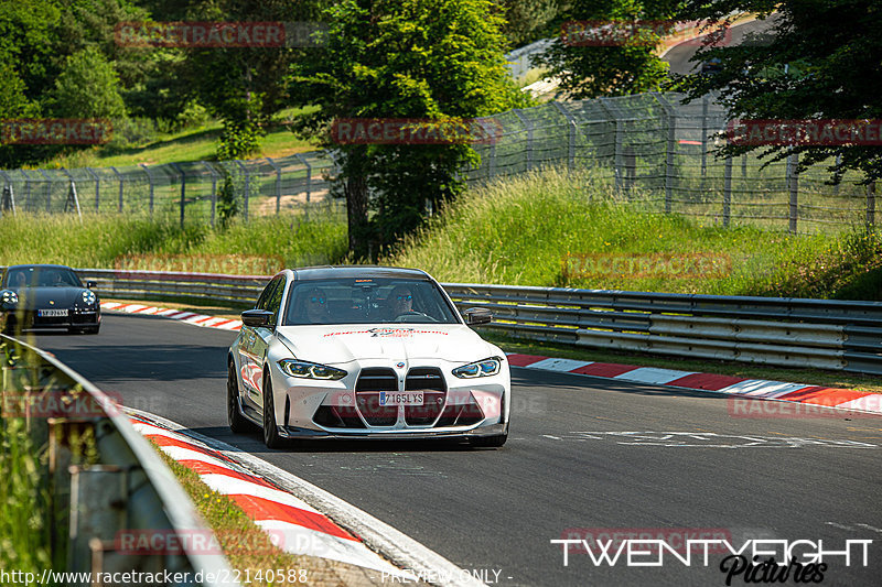
[[[104,296],[250,304],[269,276],[77,270]],[[443,284],[486,328],[531,340],[882,374],[882,302]]]

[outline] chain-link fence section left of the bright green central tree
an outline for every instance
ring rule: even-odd
[[[149,213],[212,225],[235,210],[254,216],[344,214],[330,196],[333,159],[324,152],[278,159],[162,165],[0,171],[0,210]]]

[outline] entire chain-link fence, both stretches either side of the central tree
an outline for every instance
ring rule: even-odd
[[[487,117],[481,126],[501,134],[475,145],[481,164],[464,176],[480,184],[544,166],[590,169],[592,182],[653,213],[792,232],[874,225],[874,189],[856,185],[857,173],[832,186],[826,165],[797,174],[794,156],[765,167],[754,154],[717,159],[724,110],[711,97],[688,105],[681,99],[653,93],[556,101]],[[219,163],[0,171],[0,211],[149,211],[212,224],[230,206],[246,220],[290,211],[342,215],[344,204],[329,193],[334,171],[333,154],[320,151]]]

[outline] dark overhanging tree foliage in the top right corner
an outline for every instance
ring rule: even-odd
[[[720,93],[732,119],[804,120],[882,118],[882,4],[875,0],[690,0],[693,18],[725,19],[750,11],[761,18],[776,12],[777,22],[763,42],[702,48],[696,59],[719,59],[713,75],[679,80],[690,98]],[[786,72],[786,73],[785,73]],[[830,163],[835,181],[847,170],[882,177],[882,149],[873,145],[729,144],[721,155],[757,150],[777,161],[799,153],[799,164],[840,157]]]

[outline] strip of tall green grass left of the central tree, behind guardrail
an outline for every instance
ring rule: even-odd
[[[0,242],[3,265],[174,270],[181,269],[178,256],[189,256],[194,261],[190,271],[216,273],[251,272],[255,257],[267,259],[262,267],[270,273],[281,267],[337,262],[347,247],[345,221],[329,215],[261,217],[227,229],[203,224],[181,228],[173,219],[126,215],[84,215],[82,224],[74,216],[7,215],[0,218]],[[247,264],[243,256],[249,257]]]

